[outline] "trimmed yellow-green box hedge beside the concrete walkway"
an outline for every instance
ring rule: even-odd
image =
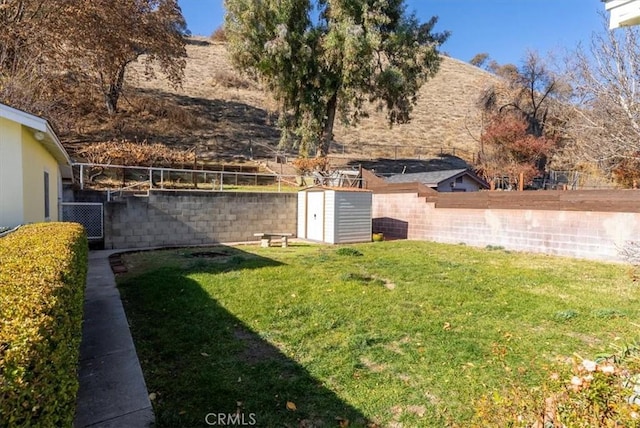
[[[0,427],[72,426],[87,259],[76,223],[0,238]]]

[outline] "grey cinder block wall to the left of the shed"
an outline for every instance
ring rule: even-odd
[[[105,248],[254,241],[296,233],[296,193],[151,192],[105,204]]]

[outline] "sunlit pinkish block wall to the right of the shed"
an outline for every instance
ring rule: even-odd
[[[413,240],[624,261],[620,250],[625,244],[640,242],[640,213],[436,208],[417,194],[374,194],[373,231]]]

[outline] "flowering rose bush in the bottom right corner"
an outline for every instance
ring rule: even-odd
[[[467,427],[640,427],[640,345],[594,360],[575,355],[538,387],[513,386],[476,403]]]

